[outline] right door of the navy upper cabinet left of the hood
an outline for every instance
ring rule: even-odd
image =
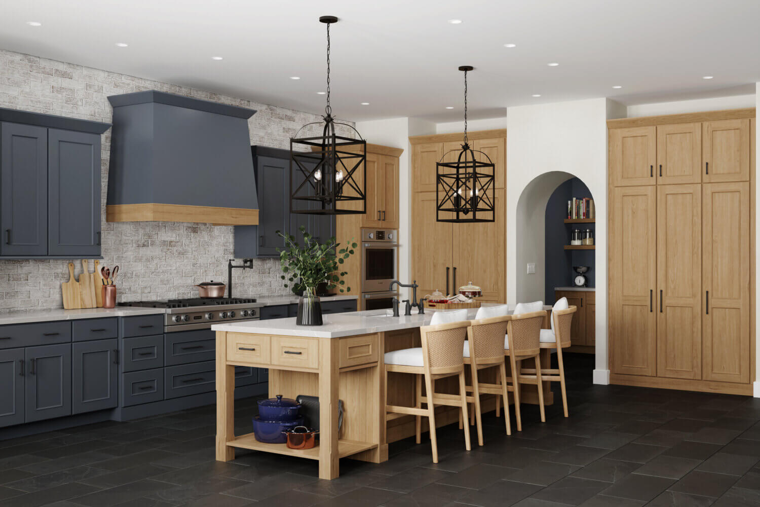
[[[100,135],[48,131],[50,255],[100,255]]]

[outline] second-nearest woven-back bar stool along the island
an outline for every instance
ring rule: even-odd
[[[464,342],[464,364],[470,365],[472,385],[467,386],[467,392],[473,392],[473,413],[477,421],[477,443],[483,445],[483,421],[480,416],[480,395],[499,395],[504,401],[504,421],[507,435],[512,434],[509,420],[509,398],[507,385],[507,369],[504,364],[504,336],[507,333],[511,315],[501,317],[481,318],[470,322],[467,328],[467,341]],[[478,370],[499,367],[499,384],[480,383]],[[470,397],[467,397],[469,401]],[[460,419],[460,426],[462,420]]]

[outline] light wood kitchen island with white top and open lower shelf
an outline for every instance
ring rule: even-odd
[[[476,312],[471,309],[468,318],[474,318]],[[325,324],[321,326],[299,326],[295,318],[214,325],[212,329],[217,331],[217,460],[234,459],[235,448],[300,456],[319,462],[321,479],[338,477],[340,458],[386,461],[388,442],[412,436],[415,429],[413,416],[393,414],[386,418],[385,391],[388,391],[388,403],[411,406],[414,383],[409,375],[392,373],[385,385],[384,353],[420,347],[420,326],[429,324],[432,313],[428,310],[424,315],[394,317],[386,310],[347,312],[325,315]],[[546,353],[546,360],[548,358]],[[320,444],[312,449],[296,450],[285,444],[258,442],[253,433],[236,436],[235,366],[268,368],[270,396],[318,396],[322,409]],[[439,381],[437,389],[445,391],[449,387],[446,380]],[[452,392],[458,392],[458,385],[451,388]],[[530,397],[524,398],[530,403]],[[340,432],[338,400],[344,403]],[[545,402],[551,404],[551,397]],[[487,400],[483,411],[493,407],[494,400]],[[437,424],[457,420],[457,412],[451,407],[440,407],[440,410],[442,417],[436,417]]]

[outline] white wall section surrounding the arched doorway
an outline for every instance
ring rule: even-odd
[[[533,296],[533,286],[540,284],[540,277],[526,283],[526,276],[522,275],[524,262],[530,256],[543,255],[546,201],[537,192],[543,190],[551,195],[562,178],[566,179],[562,173],[577,176],[594,195],[597,208],[596,266],[597,293],[600,294],[597,298],[597,366],[594,371],[594,382],[597,383],[609,382],[610,373],[607,365],[607,300],[604,296],[607,293],[608,109],[621,112],[622,108],[599,98],[507,109],[507,302],[518,303],[521,296]],[[551,185],[554,187],[549,189]],[[527,194],[521,203],[526,188]],[[525,206],[529,203],[530,206],[540,206],[541,201],[543,208],[540,209],[531,210]],[[520,208],[523,209],[520,211]],[[532,214],[540,214],[542,220],[535,219],[534,224]],[[540,227],[533,227],[539,222]],[[519,265],[518,259],[521,261]],[[540,287],[543,291],[543,285]]]

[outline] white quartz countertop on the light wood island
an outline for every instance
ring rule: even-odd
[[[486,305],[483,305],[486,306]],[[515,306],[510,305],[509,311]],[[544,306],[543,309],[552,309]],[[451,311],[451,310],[448,310]],[[402,310],[403,312],[403,310]],[[426,309],[423,315],[415,312],[412,315],[394,317],[390,310],[365,310],[364,312],[345,312],[322,315],[322,325],[296,325],[296,318],[273,318],[263,321],[242,321],[211,326],[214,331],[230,331],[233,333],[253,334],[284,334],[287,336],[304,336],[315,338],[339,338],[356,334],[380,333],[397,331],[399,329],[419,328],[429,325],[433,309]],[[475,318],[477,308],[468,309],[467,318]]]

